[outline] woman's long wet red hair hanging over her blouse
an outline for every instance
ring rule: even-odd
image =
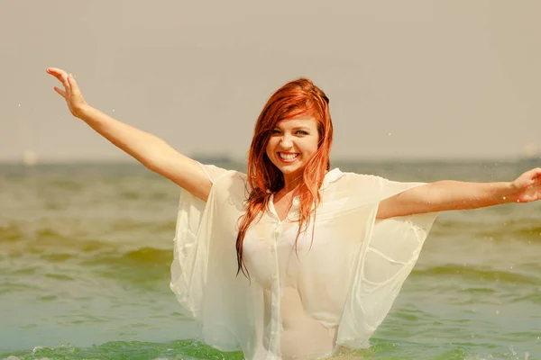
[[[281,86],[272,94],[255,123],[252,146],[248,155],[247,189],[250,189],[250,193],[244,204],[246,211],[240,218],[236,239],[237,275],[242,271],[243,275],[250,278],[243,259],[244,237],[252,223],[261,219],[269,204],[271,193],[277,193],[284,186],[283,174],[267,156],[266,148],[272,130],[279,121],[299,116],[311,116],[317,121],[318,143],[316,153],[308,161],[302,183],[298,188],[300,203],[296,247],[298,237],[307,230],[310,217],[321,202],[319,188],[330,169],[329,152],[333,142],[329,99],[312,81],[299,78]]]

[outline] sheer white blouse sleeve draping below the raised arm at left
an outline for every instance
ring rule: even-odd
[[[206,345],[252,354],[252,287],[236,274],[236,222],[243,213],[245,175],[203,166],[212,181],[206,202],[180,194],[170,288]]]

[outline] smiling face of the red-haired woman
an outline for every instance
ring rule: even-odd
[[[296,182],[317,151],[317,121],[311,116],[280,121],[272,130],[266,153],[284,175],[286,184]]]

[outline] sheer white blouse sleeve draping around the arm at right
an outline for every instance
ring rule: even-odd
[[[378,176],[370,176],[370,183],[364,188],[371,188],[377,203],[423,184],[399,183]],[[354,263],[353,281],[338,329],[337,347],[369,347],[369,338],[389,313],[402,284],[416,265],[436,215],[424,213],[365,220],[369,230],[366,238],[362,239]]]

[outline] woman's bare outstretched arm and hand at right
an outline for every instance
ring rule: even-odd
[[[416,213],[468,210],[509,202],[541,199],[541,168],[529,170],[513,182],[465,183],[437,181],[408,189],[380,202],[376,217],[387,219]]]

